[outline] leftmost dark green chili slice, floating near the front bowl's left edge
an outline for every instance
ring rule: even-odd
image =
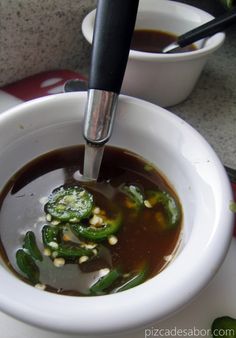
[[[39,268],[33,258],[23,249],[16,252],[16,263],[18,268],[28,277],[31,283],[39,283]]]

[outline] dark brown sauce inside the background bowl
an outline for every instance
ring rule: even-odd
[[[158,30],[140,29],[135,30],[131,42],[131,49],[147,53],[162,53],[163,49],[175,42],[177,36],[168,32]],[[196,50],[196,46],[180,48],[178,53],[192,52]]]

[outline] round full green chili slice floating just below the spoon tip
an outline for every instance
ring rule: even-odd
[[[92,209],[92,194],[78,186],[55,189],[45,205],[46,213],[55,219],[73,223],[89,217]]]

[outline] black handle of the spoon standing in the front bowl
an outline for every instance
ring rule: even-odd
[[[138,3],[138,0],[98,1],[89,89],[120,92]]]

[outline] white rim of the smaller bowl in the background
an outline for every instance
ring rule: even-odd
[[[150,4],[153,2],[153,0],[149,0]],[[158,6],[163,6],[163,8],[177,8],[178,12],[181,11],[181,9],[189,9],[194,11],[195,13],[199,14],[201,17],[204,17],[204,22],[210,21],[214,19],[214,16],[210,13],[198,8],[194,7],[189,4],[176,2],[172,0],[158,0]],[[149,8],[149,4],[147,0],[144,0],[143,2],[140,2],[139,5],[139,11],[146,11],[146,7]],[[155,11],[155,8],[152,7],[152,11]],[[94,19],[95,19],[95,13],[96,9],[89,12],[83,19],[81,29],[83,36],[85,39],[92,44],[92,32],[93,32],[93,25],[94,25]],[[147,53],[137,50],[130,50],[129,53],[129,59],[130,60],[137,60],[137,61],[165,61],[165,62],[178,62],[182,60],[193,60],[197,59],[199,57],[202,57],[203,55],[208,55],[209,53],[213,53],[215,50],[221,47],[221,45],[224,43],[225,40],[225,33],[219,32],[214,34],[213,36],[209,37],[206,41],[206,44],[204,47],[199,48],[194,51],[189,51],[185,53],[173,53],[173,54],[162,54],[162,53]]]

